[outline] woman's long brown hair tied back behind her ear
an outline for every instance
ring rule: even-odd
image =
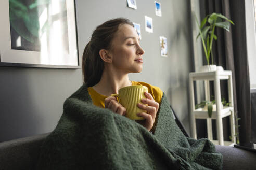
[[[116,18],[104,22],[96,27],[91,40],[84,48],[82,69],[83,81],[88,87],[97,84],[104,70],[104,61],[99,56],[99,50],[111,49],[111,44],[115,33],[120,25],[133,23],[126,18]]]

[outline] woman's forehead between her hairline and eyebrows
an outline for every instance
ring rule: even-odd
[[[138,34],[132,25],[120,25],[116,34],[116,39],[123,40],[126,37],[138,37]]]

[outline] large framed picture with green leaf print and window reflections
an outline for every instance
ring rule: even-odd
[[[1,0],[0,66],[80,68],[74,0]]]

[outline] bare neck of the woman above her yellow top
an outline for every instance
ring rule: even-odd
[[[118,94],[118,90],[126,86],[132,86],[128,74],[104,69],[100,81],[92,88],[101,95],[110,96]]]

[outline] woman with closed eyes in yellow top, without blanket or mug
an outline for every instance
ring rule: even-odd
[[[139,45],[139,37],[133,23],[125,18],[117,18],[99,25],[92,34],[91,41],[83,53],[83,77],[94,105],[105,107],[119,115],[125,115],[126,109],[117,102],[113,93],[120,88],[133,85],[148,87],[147,99],[138,107],[146,110],[137,116],[145,118],[140,122],[151,130],[156,120],[159,103],[162,98],[160,88],[144,82],[130,81],[129,73],[142,71],[144,50]],[[110,97],[108,97],[110,96]]]

